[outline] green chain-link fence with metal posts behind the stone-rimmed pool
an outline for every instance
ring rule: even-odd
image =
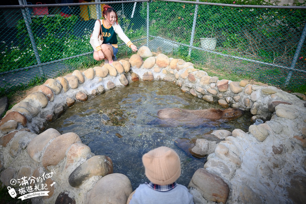
[[[103,4],[118,12],[119,24],[137,47],[277,87],[305,86],[305,6],[198,0],[19,3],[0,6],[1,93],[100,64],[92,57],[89,36]],[[132,53],[119,38],[118,45],[118,57]]]

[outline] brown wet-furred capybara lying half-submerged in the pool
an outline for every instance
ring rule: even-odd
[[[164,126],[186,125],[189,127],[199,126],[206,121],[231,120],[240,117],[242,114],[243,110],[237,108],[224,110],[214,108],[203,110],[165,108],[157,112],[160,119],[159,123]]]

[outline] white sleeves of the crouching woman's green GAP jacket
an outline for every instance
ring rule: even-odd
[[[103,24],[101,21],[101,25]],[[103,25],[102,25],[103,26]],[[131,47],[131,45],[133,44],[131,42],[131,40],[128,38],[128,36],[125,35],[125,33],[123,32],[121,26],[118,24],[116,24],[116,22],[114,22],[114,24],[112,24],[112,27],[114,28],[115,33],[119,36],[119,38],[129,47]],[[95,27],[94,30],[92,32],[91,38],[93,40],[94,46],[97,48],[97,51],[101,50],[101,46],[99,43],[99,33],[100,33],[100,23],[98,20],[95,21]],[[116,47],[117,48],[117,47]]]

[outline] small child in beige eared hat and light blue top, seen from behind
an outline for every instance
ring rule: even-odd
[[[193,204],[188,189],[175,182],[181,175],[181,162],[174,150],[158,147],[144,154],[142,162],[151,182],[140,184],[129,204]]]

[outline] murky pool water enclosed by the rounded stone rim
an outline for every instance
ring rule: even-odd
[[[138,82],[128,87],[115,88],[105,94],[79,102],[70,107],[47,128],[61,134],[75,132],[95,155],[107,155],[114,164],[114,173],[129,177],[133,189],[147,182],[141,157],[160,146],[173,148],[181,158],[182,173],[177,180],[188,186],[196,171],[206,161],[190,158],[174,145],[174,139],[201,137],[201,134],[216,129],[233,131],[236,128],[248,131],[251,115],[246,113],[233,121],[222,122],[219,127],[160,127],[149,125],[163,108],[207,109],[220,108],[184,94],[175,84],[164,81]]]

